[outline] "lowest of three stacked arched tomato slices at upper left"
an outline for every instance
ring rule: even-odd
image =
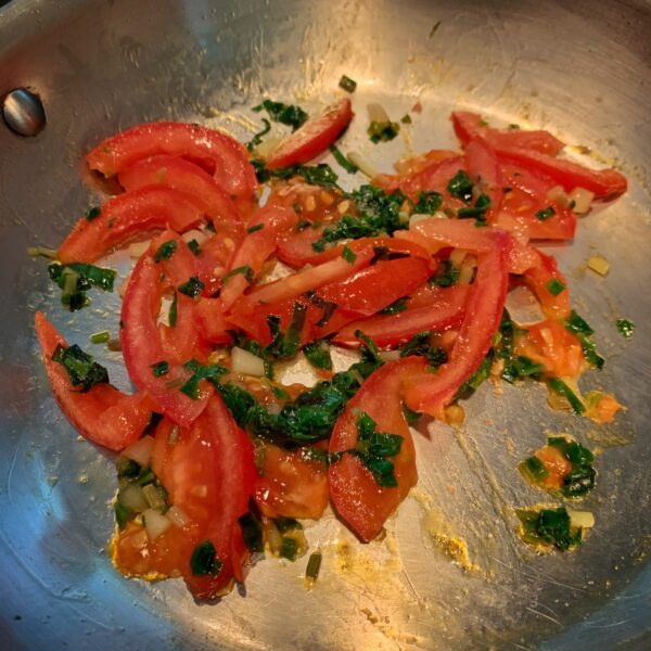
[[[89,221],[81,217],[56,253],[67,263],[93,263],[114,248],[153,230],[167,227],[183,232],[200,224],[203,210],[183,192],[150,186],[125,192],[102,206]]]

